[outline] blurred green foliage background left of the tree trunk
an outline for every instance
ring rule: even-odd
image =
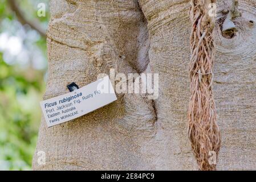
[[[30,170],[47,77],[48,0],[0,0],[0,170]]]

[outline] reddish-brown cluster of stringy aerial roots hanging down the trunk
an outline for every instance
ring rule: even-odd
[[[216,2],[192,0],[190,8],[192,32],[189,77],[192,95],[188,109],[188,136],[200,170],[216,170],[221,146],[212,90],[215,19],[208,13],[210,3]]]

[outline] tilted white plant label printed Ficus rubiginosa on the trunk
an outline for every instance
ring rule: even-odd
[[[108,76],[83,88],[40,102],[47,126],[51,127],[78,118],[116,101]]]

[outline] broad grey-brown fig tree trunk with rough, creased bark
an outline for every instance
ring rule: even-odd
[[[218,1],[214,97],[222,147],[217,169],[256,169],[256,1],[241,1],[232,39],[221,34],[231,1]],[[42,118],[33,169],[197,169],[186,135],[189,1],[54,0],[47,32],[44,99],[98,73],[160,73],[159,98],[118,100],[47,128]],[[46,152],[46,164],[37,163]]]

